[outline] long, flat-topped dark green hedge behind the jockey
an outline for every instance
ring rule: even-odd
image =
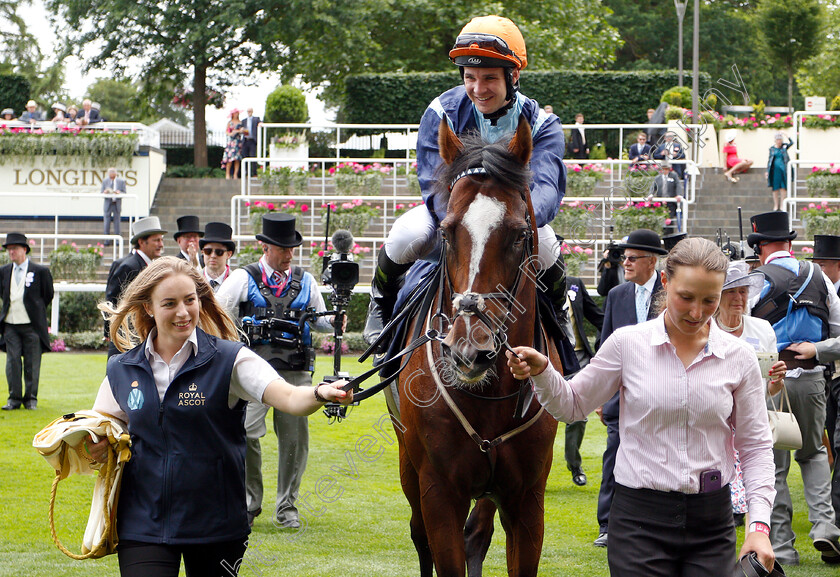
[[[524,94],[551,104],[563,121],[571,123],[583,112],[587,123],[604,124],[647,122],[647,109],[656,108],[662,93],[677,82],[676,70],[528,70],[521,80]],[[691,85],[690,74],[685,82]],[[429,102],[460,83],[457,71],[349,76],[343,113],[349,123],[417,123]],[[701,72],[701,96],[710,86],[710,76]]]

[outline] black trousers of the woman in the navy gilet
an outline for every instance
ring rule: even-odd
[[[182,556],[187,577],[236,577],[247,547],[246,537],[201,545],[120,541],[117,556],[122,577],[178,577]]]

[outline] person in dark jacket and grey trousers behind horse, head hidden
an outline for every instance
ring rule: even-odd
[[[568,319],[567,326],[565,327],[566,334],[570,335],[569,342],[574,346],[575,356],[578,359],[580,368],[583,368],[595,356],[592,345],[589,344],[584,320],[592,323],[598,331],[595,335],[595,342],[597,343],[601,329],[604,326],[604,311],[592,300],[592,297],[586,290],[586,285],[583,284],[580,278],[567,276],[566,284],[568,286],[565,305],[565,310],[568,313],[566,317]],[[564,453],[566,468],[572,473],[572,482],[579,487],[586,485],[587,481],[586,473],[583,472],[583,460],[580,456],[580,446],[583,443],[585,432],[586,419],[566,425]]]

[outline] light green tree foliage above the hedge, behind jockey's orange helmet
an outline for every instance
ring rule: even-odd
[[[266,30],[284,49],[265,57],[284,81],[299,75],[324,86],[324,99],[336,105],[350,74],[451,70],[455,37],[484,14],[502,14],[520,27],[529,69],[597,69],[620,45],[608,13],[600,0],[510,0],[504,7],[486,0],[289,0]]]

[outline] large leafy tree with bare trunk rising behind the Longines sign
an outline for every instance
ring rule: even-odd
[[[196,166],[207,166],[204,114],[208,82],[220,88],[237,82],[240,70],[261,69],[260,46],[268,14],[283,14],[280,0],[47,0],[66,24],[60,35],[69,47],[94,46],[85,67],[106,66],[135,76],[142,94],[159,101],[191,86]]]

